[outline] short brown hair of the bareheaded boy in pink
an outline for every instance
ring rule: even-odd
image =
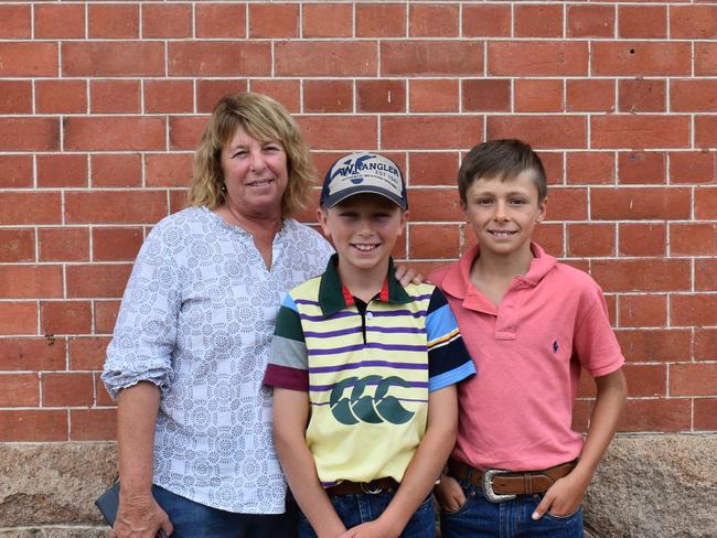
[[[474,181],[482,177],[497,177],[504,181],[521,172],[532,170],[533,181],[538,190],[538,202],[547,196],[547,180],[541,158],[525,142],[515,139],[490,140],[468,152],[458,171],[458,193],[465,204],[465,193]]]

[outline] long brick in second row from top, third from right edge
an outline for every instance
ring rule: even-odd
[[[569,41],[490,42],[488,73],[499,76],[587,75],[588,45]]]

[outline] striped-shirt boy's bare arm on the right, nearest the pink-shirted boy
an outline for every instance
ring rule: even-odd
[[[352,527],[343,535],[355,538],[399,536],[418,506],[430,493],[456,444],[458,398],[456,385],[428,395],[426,434],[410,460],[404,480],[384,513],[374,521]]]

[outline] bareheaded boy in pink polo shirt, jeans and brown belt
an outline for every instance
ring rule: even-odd
[[[529,146],[474,147],[458,183],[479,246],[429,279],[481,375],[458,387],[458,441],[436,486],[442,536],[581,538],[582,494],[627,398],[602,291],[531,241],[547,186]],[[585,442],[570,426],[581,368],[597,386]]]

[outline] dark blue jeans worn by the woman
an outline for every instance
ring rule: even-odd
[[[235,514],[181,497],[152,486],[152,495],[174,525],[171,538],[295,538],[297,513],[293,499],[286,514]]]

